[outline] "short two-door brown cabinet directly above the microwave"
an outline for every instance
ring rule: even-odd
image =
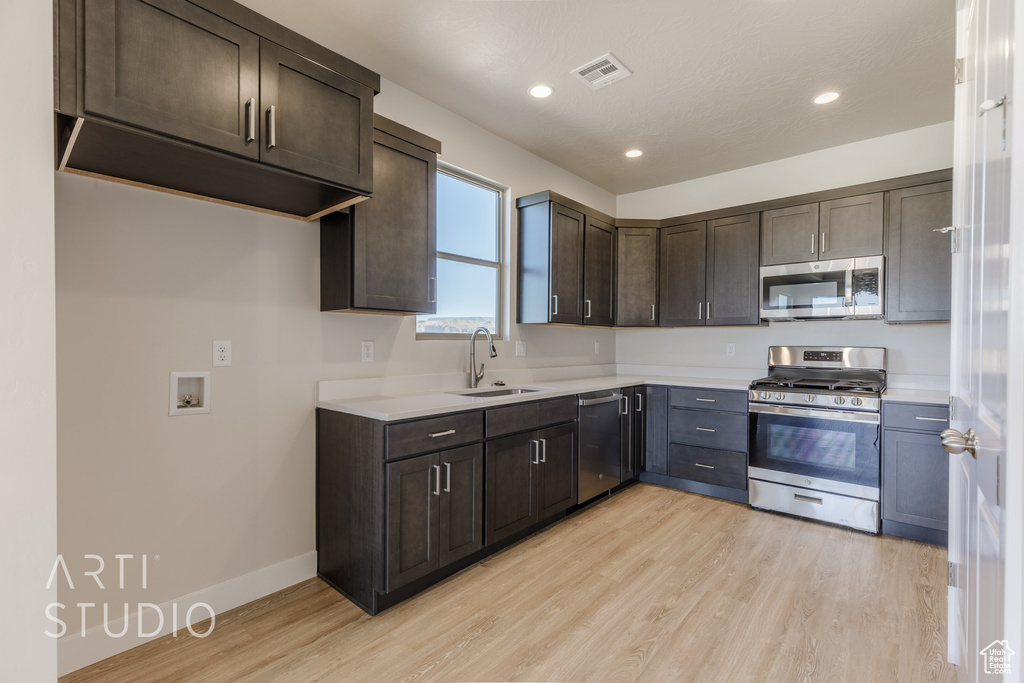
[[[761,264],[877,256],[884,229],[883,193],[772,209],[761,214]]]

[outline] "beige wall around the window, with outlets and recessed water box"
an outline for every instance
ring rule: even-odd
[[[551,188],[614,208],[611,195],[390,83],[376,110],[438,137],[445,161],[509,185],[512,199]],[[124,591],[61,585],[66,603],[121,615],[125,602],[163,604],[304,557],[315,382],[468,371],[466,342],[416,341],[411,316],[321,313],[318,237],[316,223],[57,174],[59,549],[78,579],[94,568],[85,554],[105,559],[108,579],[119,553],[150,558],[144,590],[136,564]],[[490,377],[614,360],[610,330],[513,325],[510,335],[527,356],[499,342]],[[232,367],[211,367],[214,339],[232,341]],[[359,361],[361,340],[375,342],[375,362]],[[208,415],[168,417],[174,371],[212,373]],[[74,607],[63,616],[81,632]],[[101,607],[87,611],[88,628],[101,622]],[[88,660],[83,648],[111,653],[109,640],[99,629],[62,641],[65,670]]]

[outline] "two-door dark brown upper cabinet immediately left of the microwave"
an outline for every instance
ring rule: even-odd
[[[758,324],[757,213],[662,228],[662,327]]]

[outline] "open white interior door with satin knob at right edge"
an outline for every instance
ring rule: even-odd
[[[1019,643],[992,645],[1008,638],[1008,423],[1014,429],[1021,423],[1019,415],[1008,420],[1015,298],[1010,271],[1013,2],[958,4],[964,83],[957,87],[955,124],[959,253],[953,259],[950,427],[966,437],[953,434],[944,441],[962,451],[949,464],[949,554],[955,574],[948,607],[949,658],[962,681],[1010,681],[1020,680],[1020,659],[1010,659],[1009,672],[996,672],[999,667],[989,657],[994,649],[1021,649]]]

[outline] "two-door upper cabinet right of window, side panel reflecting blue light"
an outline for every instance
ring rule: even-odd
[[[540,193],[517,200],[518,323],[614,324],[615,231],[608,216],[585,214]]]

